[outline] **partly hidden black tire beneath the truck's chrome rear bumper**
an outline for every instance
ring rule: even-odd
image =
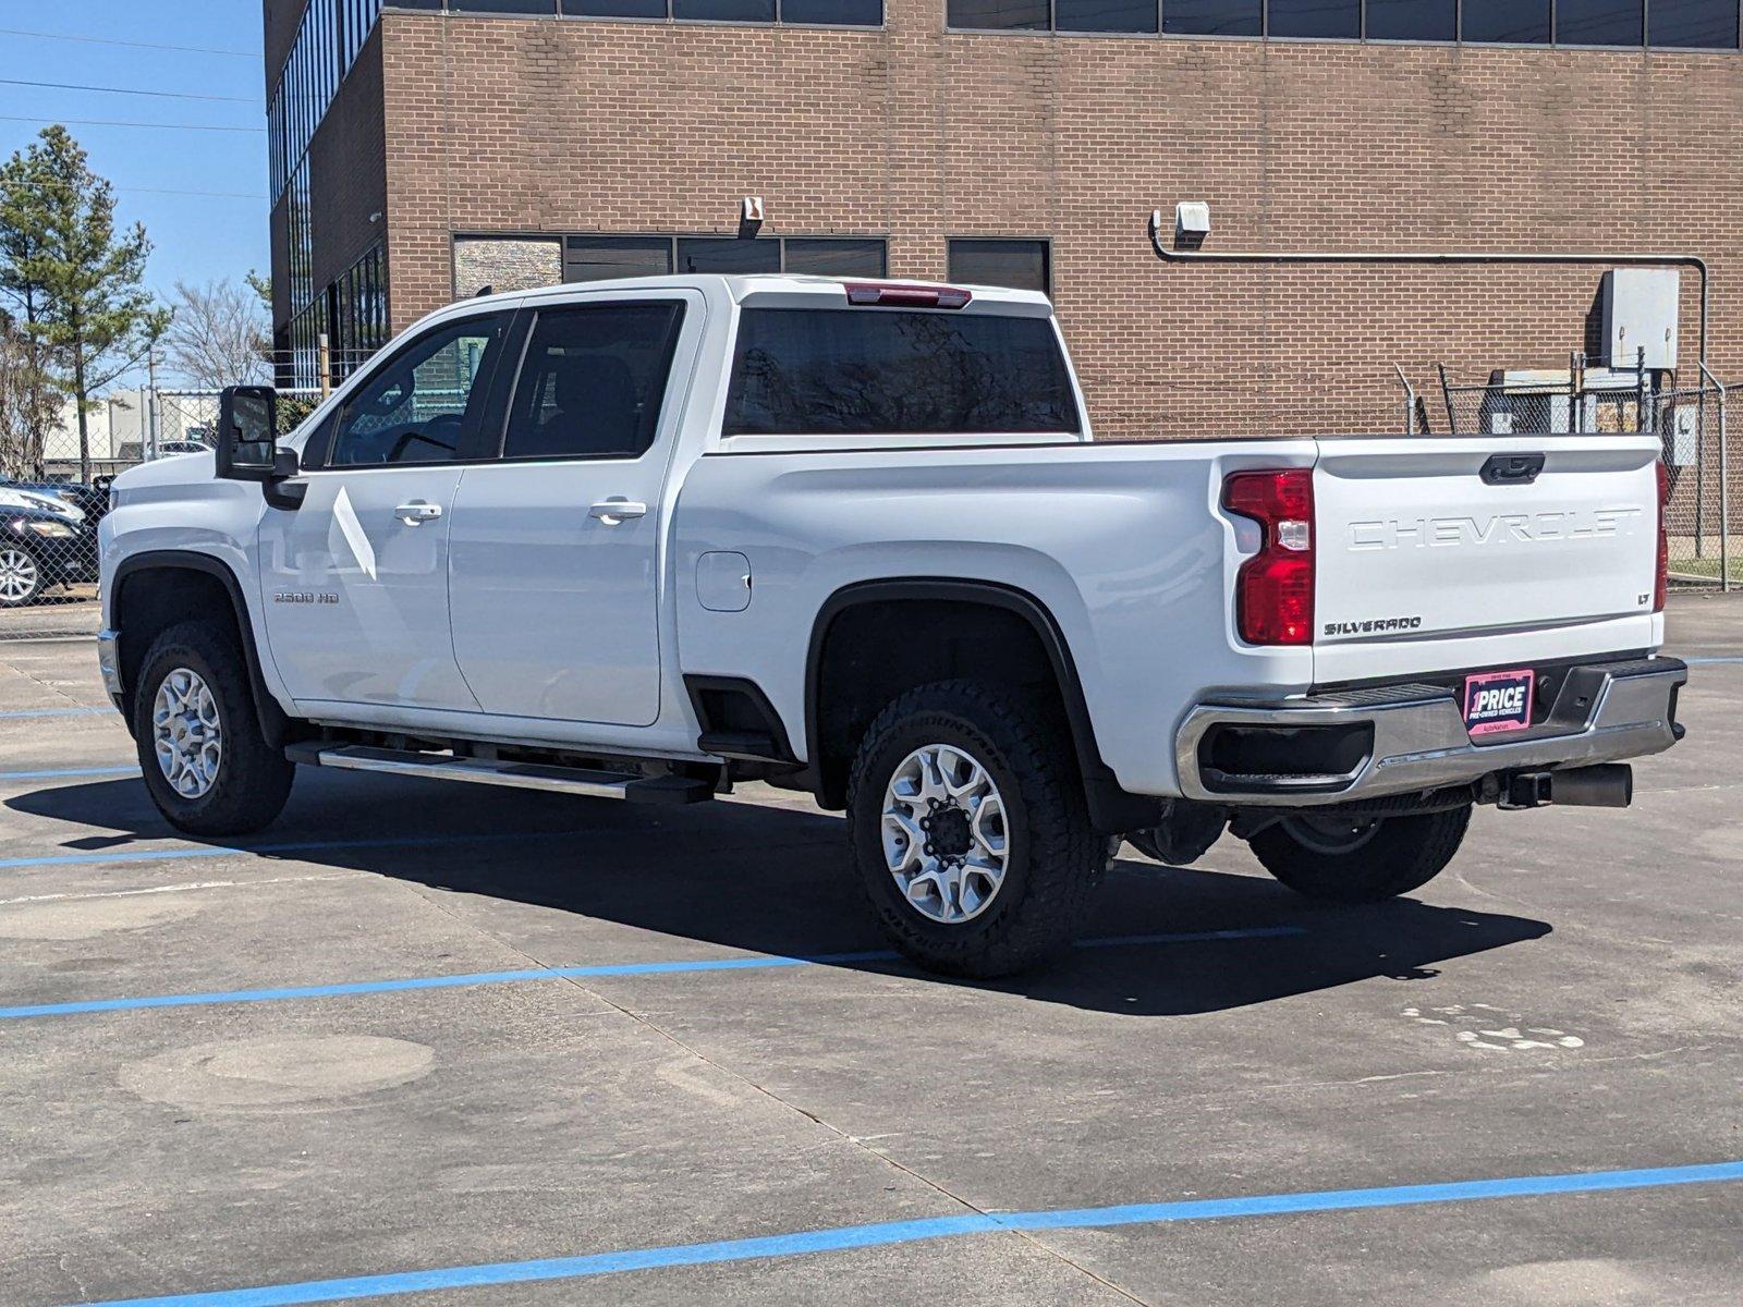
[[[1264,864],[1297,894],[1325,903],[1379,903],[1421,889],[1441,873],[1464,842],[1471,805],[1445,812],[1380,817],[1339,849],[1333,831],[1312,830],[1286,817],[1248,843]]]

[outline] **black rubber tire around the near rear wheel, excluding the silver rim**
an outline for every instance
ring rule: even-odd
[[[885,788],[929,744],[971,753],[1004,805],[1004,878],[962,922],[934,920],[910,903],[884,856]],[[1065,950],[1109,857],[1107,836],[1089,824],[1065,730],[981,681],[910,690],[866,728],[849,777],[847,840],[859,887],[896,948],[927,971],[980,979]]]

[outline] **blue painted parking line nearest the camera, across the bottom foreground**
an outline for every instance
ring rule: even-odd
[[[1663,1188],[1743,1180],[1743,1162],[1661,1166],[1638,1171],[1576,1171],[1569,1175],[1459,1180],[1438,1185],[1391,1185],[1386,1188],[1326,1188],[1312,1194],[1257,1194],[1251,1197],[1194,1199],[1185,1202],[1140,1202],[1119,1208],[1075,1208],[1065,1211],[969,1211],[875,1225],[840,1225],[828,1230],[797,1230],[749,1239],[701,1244],[631,1248],[614,1253],[551,1256],[532,1262],[488,1262],[432,1270],[401,1270],[385,1276],[310,1279],[300,1284],[261,1284],[216,1293],[174,1293],[159,1298],[115,1298],[89,1307],[296,1307],[298,1304],[357,1298],[390,1298],[404,1293],[528,1284],[554,1279],[619,1276],[629,1270],[762,1262],[814,1256],[854,1248],[889,1248],[931,1239],[1004,1230],[1093,1230],[1119,1225],[1166,1225],[1173,1222],[1227,1220],[1232,1216],[1276,1216],[1281,1213],[1353,1211],[1361,1208],[1407,1208],[1428,1202],[1473,1202],[1502,1197],[1548,1197],[1556,1194],[1602,1194],[1626,1188]]]

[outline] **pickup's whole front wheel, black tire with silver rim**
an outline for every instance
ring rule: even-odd
[[[218,622],[181,622],[157,638],[132,723],[145,784],[171,826],[246,835],[284,810],[296,767],[261,734],[248,664]]]

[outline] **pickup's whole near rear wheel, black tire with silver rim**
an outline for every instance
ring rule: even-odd
[[[884,931],[950,976],[1006,976],[1063,950],[1107,863],[1065,732],[981,681],[926,685],[877,716],[847,835]]]

